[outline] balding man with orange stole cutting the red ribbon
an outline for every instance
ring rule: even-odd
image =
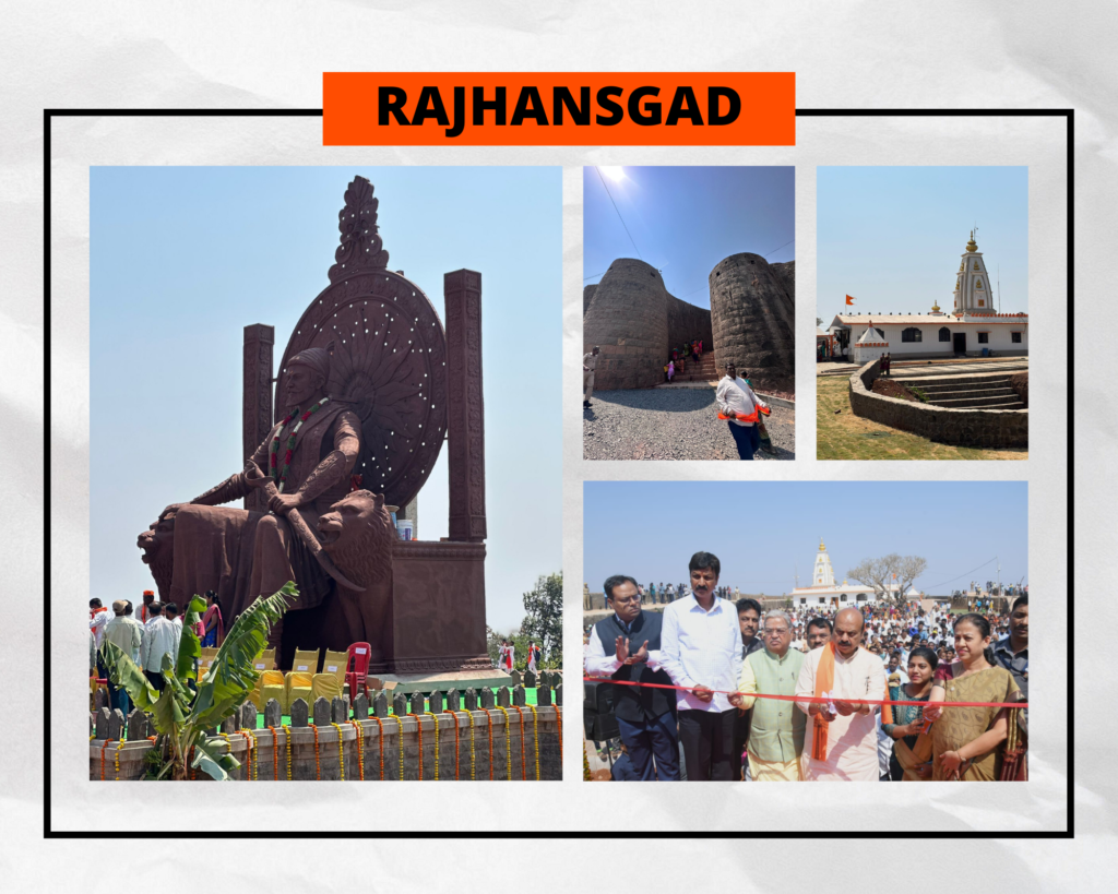
[[[874,715],[883,708],[882,720],[891,723],[892,714],[888,705],[865,702],[889,696],[881,658],[861,648],[864,629],[862,612],[844,608],[835,616],[831,641],[804,659],[796,696],[817,700],[796,702],[808,717],[807,782],[877,782],[880,778]]]

